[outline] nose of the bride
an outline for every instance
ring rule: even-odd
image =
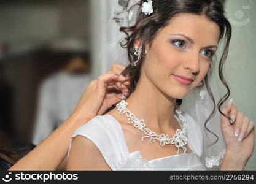
[[[187,55],[186,61],[183,64],[184,69],[189,69],[192,73],[200,70],[200,55],[199,52],[191,52]]]

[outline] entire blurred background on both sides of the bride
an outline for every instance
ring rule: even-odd
[[[0,130],[37,145],[72,112],[113,59],[118,0],[0,0]],[[256,1],[227,0],[233,26],[225,79],[239,111],[256,122]],[[215,70],[217,72],[217,70]],[[217,73],[216,73],[217,74]],[[246,75],[245,75],[246,74]],[[221,96],[227,91],[220,80]],[[256,155],[246,169],[256,169]]]

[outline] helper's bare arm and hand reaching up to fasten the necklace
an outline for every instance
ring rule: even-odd
[[[125,86],[120,88],[117,85],[125,80],[125,77],[119,75],[122,70],[123,66],[115,64],[110,72],[101,75],[98,80],[93,80],[71,116],[9,170],[56,170],[61,163],[63,168],[64,158],[68,153],[69,138],[74,131],[96,115],[102,115],[112,104],[120,101],[121,94],[106,94],[106,91],[115,88],[126,93]],[[128,82],[125,85],[128,85]]]

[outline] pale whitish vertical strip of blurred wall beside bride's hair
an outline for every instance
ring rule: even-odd
[[[112,63],[109,57],[109,47],[112,40],[117,39],[118,25],[112,21],[113,12],[118,0],[90,0],[91,1],[91,37],[93,56],[93,77],[107,72]]]

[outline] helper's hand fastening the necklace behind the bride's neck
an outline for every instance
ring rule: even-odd
[[[119,102],[122,94],[128,93],[127,85],[130,85],[128,81],[121,85],[126,80],[120,75],[123,69],[125,67],[122,65],[113,64],[107,74],[100,75],[98,80],[90,82],[72,114],[79,113],[80,116],[90,120],[96,115],[103,115],[109,107]]]

